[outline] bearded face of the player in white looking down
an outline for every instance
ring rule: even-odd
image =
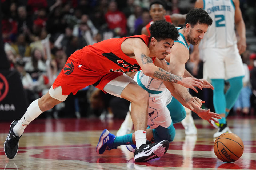
[[[207,24],[199,24],[197,23],[194,27],[190,27],[189,33],[187,35],[187,40],[192,45],[197,45],[203,36],[207,32],[208,25]]]

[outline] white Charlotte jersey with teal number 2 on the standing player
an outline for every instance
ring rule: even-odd
[[[237,43],[235,34],[235,5],[232,0],[203,0],[204,10],[213,19],[200,48],[226,48]]]

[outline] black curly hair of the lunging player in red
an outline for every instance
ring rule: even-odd
[[[166,20],[155,21],[149,27],[150,40],[154,37],[157,41],[165,40],[167,38],[178,40],[179,32],[177,28]]]

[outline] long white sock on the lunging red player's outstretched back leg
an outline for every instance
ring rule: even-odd
[[[24,132],[24,129],[27,127],[27,125],[37,118],[42,111],[40,110],[38,106],[38,99],[33,101],[29,107],[27,108],[26,113],[21,117],[21,120],[18,121],[18,123],[13,127],[13,132],[17,136],[21,136]]]

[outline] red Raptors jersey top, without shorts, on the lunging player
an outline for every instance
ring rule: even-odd
[[[85,63],[87,70],[89,68],[89,70],[96,72],[95,75],[104,75],[110,72],[139,71],[141,68],[136,59],[127,56],[121,50],[122,42],[132,37],[139,37],[147,46],[149,44],[150,37],[146,35],[111,38],[78,50],[79,58],[83,60],[82,63]],[[77,59],[74,57],[71,55],[69,59],[76,61]],[[155,58],[152,58],[152,60],[154,62]],[[83,69],[83,66],[81,66],[81,69]]]

